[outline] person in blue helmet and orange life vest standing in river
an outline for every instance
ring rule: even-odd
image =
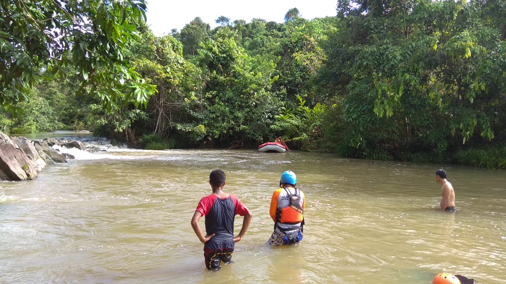
[[[297,245],[304,230],[304,193],[296,187],[297,176],[292,171],[281,174],[279,188],[272,194],[269,213],[274,221],[270,245]]]

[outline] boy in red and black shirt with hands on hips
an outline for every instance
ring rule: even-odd
[[[221,261],[225,264],[233,262],[235,243],[242,240],[246,233],[251,222],[251,212],[237,197],[223,192],[225,173],[222,170],[214,170],[209,174],[209,184],[213,188],[213,194],[200,200],[191,219],[191,226],[204,244],[205,267],[217,271],[221,268]],[[235,215],[244,216],[241,231],[236,237]],[[205,216],[205,235],[198,224],[202,216]]]

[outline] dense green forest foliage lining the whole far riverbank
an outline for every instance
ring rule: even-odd
[[[72,35],[61,46],[48,37],[51,21],[34,27],[46,12],[23,3],[0,1],[1,130],[88,128],[146,149],[256,147],[282,136],[292,150],[506,168],[502,0],[336,0],[335,17],[306,20],[293,8],[284,23],[220,16],[215,29],[197,17],[161,37],[135,21],[143,1],[90,1],[93,13],[69,2],[92,21],[76,28],[64,20],[77,14],[56,17]],[[35,20],[20,19],[29,11]],[[20,48],[29,34],[35,51]]]

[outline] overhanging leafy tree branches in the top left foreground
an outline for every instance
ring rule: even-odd
[[[120,105],[146,105],[154,92],[123,60],[125,43],[146,20],[144,0],[0,2],[0,105],[30,99],[34,83],[72,66],[81,93],[114,112]]]

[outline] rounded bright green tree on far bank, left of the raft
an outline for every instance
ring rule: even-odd
[[[216,146],[262,141],[280,105],[271,92],[274,63],[248,56],[234,38],[230,29],[220,29],[196,57],[207,75],[192,113]]]

